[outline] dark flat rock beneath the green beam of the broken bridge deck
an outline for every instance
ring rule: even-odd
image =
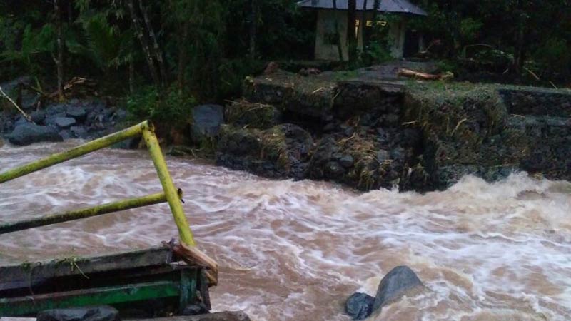
[[[119,312],[114,307],[77,307],[39,312],[37,321],[118,321]]]

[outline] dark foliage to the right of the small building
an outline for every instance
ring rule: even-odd
[[[440,57],[471,63],[468,67],[476,71],[569,82],[571,1],[416,2],[429,14],[418,28],[439,40],[435,49]]]

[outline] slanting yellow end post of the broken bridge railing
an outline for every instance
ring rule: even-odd
[[[173,213],[173,218],[176,223],[176,227],[178,228],[178,235],[181,238],[181,242],[188,246],[195,246],[196,243],[194,243],[191,228],[188,226],[186,216],[184,215],[183,205],[176,193],[176,188],[173,184],[171,174],[168,173],[168,168],[166,166],[165,158],[163,157],[163,152],[161,151],[161,146],[158,144],[158,140],[152,126],[143,129],[143,138],[147,145],[148,152],[151,153],[151,158],[155,164],[158,179],[161,180],[161,185],[163,185],[166,200],[168,201],[168,205],[171,207],[171,213]]]

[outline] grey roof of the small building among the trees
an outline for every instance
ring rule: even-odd
[[[348,0],[337,0],[338,10],[348,9]],[[364,0],[357,0],[357,10],[363,11]],[[298,2],[299,6],[315,9],[334,9],[333,0],[303,0]],[[373,10],[375,6],[374,0],[367,1],[366,10]],[[426,11],[420,9],[418,6],[411,4],[408,0],[380,0],[378,11],[383,12],[398,12],[401,14],[418,14],[426,16]]]

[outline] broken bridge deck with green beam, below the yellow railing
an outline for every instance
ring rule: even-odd
[[[124,262],[116,264],[116,260],[122,258],[133,260],[133,264],[128,268]],[[154,248],[103,257],[53,260],[41,263],[44,265],[40,264],[40,268],[0,267],[0,276],[13,279],[0,288],[0,295],[6,296],[0,298],[0,316],[33,317],[43,310],[144,304],[148,300],[171,300],[176,302],[175,312],[179,312],[192,303],[208,303],[208,287],[203,287],[206,278],[201,267],[176,260],[169,248]],[[80,266],[91,272],[83,272]],[[24,280],[24,273],[30,275],[29,282]],[[63,274],[66,275],[61,276]]]

